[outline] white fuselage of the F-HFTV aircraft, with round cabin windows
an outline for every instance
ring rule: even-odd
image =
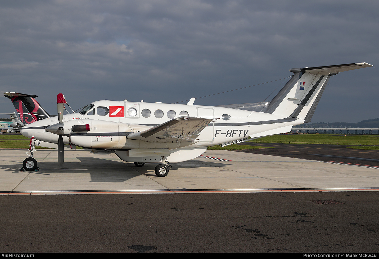
[[[91,105],[93,106],[84,114],[76,112],[63,116],[65,125],[63,140],[65,144],[111,150],[147,148],[168,148],[171,150],[183,147],[208,147],[248,137],[254,138],[289,132],[293,125],[304,123],[304,120],[286,119],[275,114],[216,106],[108,100],[95,101]],[[130,108],[133,109],[130,110]],[[183,114],[189,117],[211,118],[213,120],[201,131],[196,141],[191,143],[159,143],[154,140],[146,142],[127,139],[128,132],[146,130]],[[90,130],[87,133],[71,132],[70,126],[77,122],[89,124]],[[21,133],[27,137],[57,144],[58,135],[45,130],[47,126],[56,123],[58,123],[58,117],[39,120],[25,125]],[[270,131],[272,132],[270,133]]]

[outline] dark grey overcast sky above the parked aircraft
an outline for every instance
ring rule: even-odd
[[[379,117],[379,1],[2,0],[0,91],[174,103],[293,75],[367,62],[332,76],[312,122]],[[195,105],[270,101],[281,81]],[[273,94],[271,94],[274,92]],[[271,94],[271,95],[270,95]],[[183,102],[186,104],[186,102]],[[0,112],[15,111],[0,97]]]

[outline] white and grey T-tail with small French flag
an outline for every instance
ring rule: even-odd
[[[373,66],[367,63],[352,63],[290,69],[294,75],[269,103],[266,113],[310,122],[330,76],[363,67]]]

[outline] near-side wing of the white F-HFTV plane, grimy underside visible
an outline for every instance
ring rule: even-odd
[[[149,142],[193,142],[212,120],[182,116],[149,130],[131,133],[127,138]]]

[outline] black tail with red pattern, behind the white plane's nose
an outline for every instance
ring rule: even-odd
[[[37,120],[50,118],[50,115],[34,99],[37,95],[6,92],[4,96],[11,99],[24,125],[36,122]]]

